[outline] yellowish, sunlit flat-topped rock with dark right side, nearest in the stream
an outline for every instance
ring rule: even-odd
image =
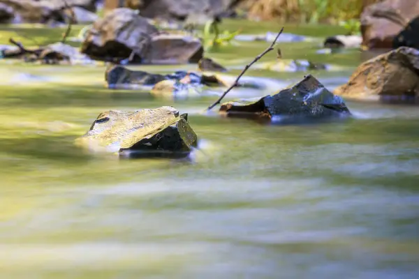
[[[174,107],[159,107],[103,112],[75,144],[90,151],[117,152],[129,158],[182,158],[189,155],[197,142],[187,114],[179,114]]]

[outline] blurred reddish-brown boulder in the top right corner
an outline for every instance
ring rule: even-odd
[[[391,48],[397,34],[418,15],[418,0],[385,0],[367,6],[360,18],[362,45]]]

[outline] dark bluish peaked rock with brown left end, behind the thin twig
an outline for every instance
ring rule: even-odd
[[[273,96],[223,103],[219,113],[229,117],[270,120],[272,116],[288,119],[321,119],[350,115],[341,97],[333,95],[312,75]]]

